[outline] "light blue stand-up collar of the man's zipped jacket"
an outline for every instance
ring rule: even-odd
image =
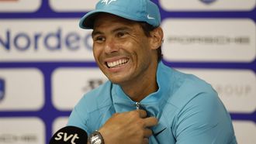
[[[168,77],[171,77],[172,73],[172,70],[171,73],[170,70],[164,63],[158,63],[158,90],[140,101],[140,108],[146,110],[148,116],[161,117],[161,109],[166,104],[168,95],[170,95],[171,81],[168,81]],[[113,84],[112,101],[116,112],[132,111],[137,108],[136,101],[131,100],[118,84]]]

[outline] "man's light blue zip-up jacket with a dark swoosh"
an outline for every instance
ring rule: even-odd
[[[192,74],[183,74],[159,63],[158,91],[140,101],[140,108],[158,118],[152,128],[152,144],[235,144],[230,115],[216,91]],[[110,81],[85,94],[71,113],[67,125],[91,133],[116,112],[137,108],[119,85]]]

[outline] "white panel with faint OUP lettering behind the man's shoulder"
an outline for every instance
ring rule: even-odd
[[[252,113],[256,109],[256,75],[251,70],[192,70],[181,69],[195,74],[218,92],[220,99],[231,112]],[[223,81],[225,80],[225,81]],[[230,102],[232,101],[232,102]]]

